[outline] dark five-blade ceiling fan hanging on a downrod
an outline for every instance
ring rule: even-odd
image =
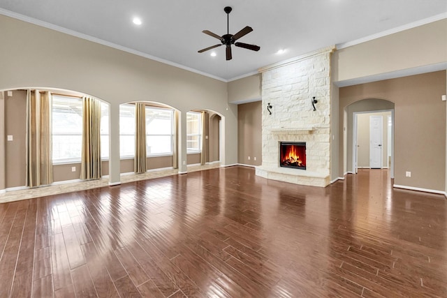
[[[212,45],[211,47],[205,47],[205,49],[199,50],[199,53],[203,53],[207,50],[211,50],[214,49],[214,47],[220,47],[221,45],[226,45],[226,59],[227,60],[231,60],[232,56],[231,56],[231,45],[235,45],[236,47],[243,47],[244,49],[248,49],[248,50],[252,50],[252,51],[258,51],[261,49],[261,47],[258,47],[258,45],[249,45],[248,43],[239,43],[239,42],[235,42],[236,40],[238,40],[239,38],[241,38],[242,36],[245,36],[246,34],[250,33],[251,31],[253,31],[253,29],[251,29],[251,27],[246,26],[244,29],[240,30],[239,32],[235,33],[235,35],[230,34],[230,27],[229,27],[229,15],[231,13],[231,10],[233,10],[233,8],[230,8],[230,6],[226,6],[226,8],[223,8],[223,11],[226,12],[226,34],[223,34],[223,36],[218,36],[216,33],[212,33],[211,31],[208,30],[203,30],[202,32],[212,36],[214,38],[217,38],[219,40],[221,40],[221,43],[217,44],[217,45]]]

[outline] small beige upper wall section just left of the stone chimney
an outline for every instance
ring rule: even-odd
[[[261,73],[228,82],[228,103],[261,100]]]

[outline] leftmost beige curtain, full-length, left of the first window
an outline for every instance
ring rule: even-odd
[[[29,187],[53,181],[51,111],[50,92],[27,91],[26,185]]]

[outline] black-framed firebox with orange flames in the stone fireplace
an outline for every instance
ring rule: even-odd
[[[280,142],[279,165],[281,167],[306,170],[306,143]]]

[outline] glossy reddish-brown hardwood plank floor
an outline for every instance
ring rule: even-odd
[[[0,204],[0,297],[447,297],[447,200],[227,167]]]

